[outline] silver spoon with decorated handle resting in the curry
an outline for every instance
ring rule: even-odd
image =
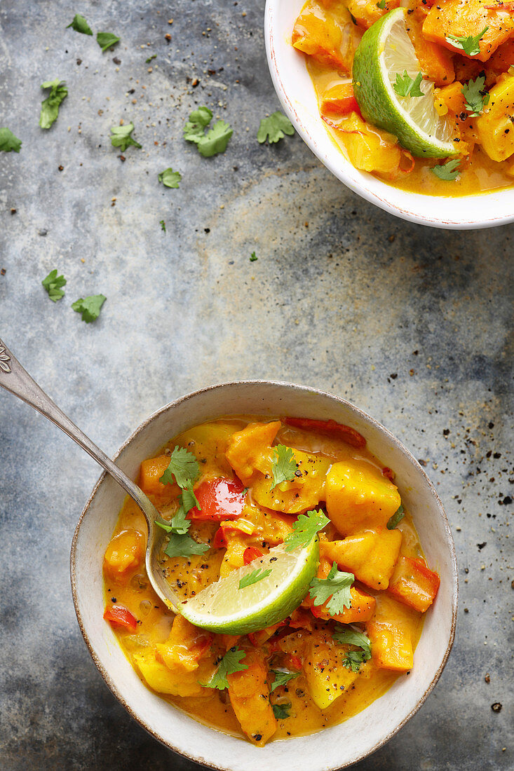
[[[55,423],[56,426],[59,426],[59,429],[68,434],[82,449],[85,449],[86,453],[89,453],[93,460],[96,460],[96,463],[100,463],[100,466],[107,473],[110,473],[110,476],[113,476],[113,479],[123,487],[123,490],[135,500],[140,510],[144,513],[144,518],[147,522],[148,541],[145,566],[150,584],[167,607],[176,611],[178,600],[164,578],[162,568],[157,560],[157,556],[161,551],[160,541],[163,540],[164,532],[155,524],[156,517],[159,517],[159,512],[154,507],[154,504],[147,498],[143,490],[140,490],[137,484],[134,484],[127,474],[118,468],[116,463],[113,463],[85,433],[77,428],[75,423],[71,422],[69,417],[64,414],[62,409],[59,409],[55,402],[52,402],[52,399],[31,378],[29,372],[23,369],[22,365],[15,359],[2,340],[0,340],[0,385],[31,407],[34,407],[34,409],[37,409],[38,412],[41,412],[42,415],[51,420],[52,423]]]

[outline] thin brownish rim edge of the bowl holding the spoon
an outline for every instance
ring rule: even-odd
[[[427,689],[425,689],[423,695],[421,695],[420,699],[418,699],[418,702],[414,707],[411,709],[411,712],[408,713],[404,717],[404,719],[394,728],[392,729],[387,736],[384,736],[382,739],[380,739],[374,746],[370,747],[369,749],[366,749],[364,752],[360,754],[360,756],[354,760],[351,761],[351,763],[347,763],[344,766],[334,766],[331,769],[326,769],[326,771],[340,771],[340,769],[347,768],[349,766],[353,766],[354,763],[359,763],[360,760],[363,760],[370,756],[373,752],[376,752],[377,749],[380,749],[380,747],[384,746],[387,742],[390,741],[390,739],[393,738],[397,734],[397,732],[403,728],[403,726],[418,712],[418,709],[421,708],[421,706],[426,701],[428,695],[431,693],[431,691],[434,689],[436,683],[438,682],[438,679],[441,677],[441,674],[443,672],[443,669],[445,668],[446,663],[448,662],[448,657],[451,652],[451,648],[453,647],[454,641],[455,641],[455,628],[457,625],[457,608],[458,608],[458,566],[457,566],[457,555],[455,553],[455,542],[453,540],[453,536],[451,534],[451,528],[450,524],[448,522],[448,517],[446,516],[445,509],[441,503],[441,499],[438,496],[437,490],[435,490],[434,484],[431,482],[430,478],[428,477],[428,474],[425,473],[423,467],[420,463],[418,463],[418,460],[414,457],[414,455],[411,453],[407,447],[404,446],[404,444],[400,441],[400,439],[397,439],[396,436],[394,436],[393,433],[389,429],[387,429],[385,426],[383,426],[381,423],[379,423],[374,417],[370,416],[367,412],[364,412],[363,409],[360,409],[359,407],[355,406],[353,402],[348,401],[347,399],[343,399],[341,396],[336,396],[336,394],[333,394],[328,391],[324,391],[322,389],[316,389],[313,387],[310,387],[309,385],[300,385],[298,383],[293,382],[287,382],[287,381],[281,381],[281,380],[263,380],[263,379],[255,379],[255,380],[232,380],[227,382],[220,382],[215,383],[213,385],[206,385],[204,388],[197,389],[195,391],[191,391],[184,396],[179,396],[178,399],[174,399],[172,402],[167,402],[164,406],[154,410],[154,412],[151,412],[147,418],[145,418],[139,426],[137,426],[136,429],[130,434],[130,436],[125,439],[123,444],[117,449],[117,452],[113,455],[113,461],[116,461],[117,458],[120,456],[120,454],[123,452],[123,450],[144,430],[149,426],[150,423],[154,421],[158,416],[163,414],[164,412],[168,412],[171,409],[174,409],[175,407],[183,404],[184,402],[187,402],[189,399],[193,399],[197,396],[200,396],[201,394],[213,391],[217,389],[225,389],[227,387],[230,387],[232,385],[279,385],[286,388],[293,388],[300,391],[306,391],[313,394],[316,394],[317,396],[328,396],[330,399],[336,399],[337,402],[340,402],[341,404],[349,407],[351,410],[357,412],[357,414],[364,418],[367,422],[371,423],[375,428],[377,428],[380,432],[383,432],[387,439],[389,439],[396,449],[399,449],[402,453],[404,453],[408,460],[411,460],[411,463],[414,463],[414,466],[418,470],[418,472],[421,472],[421,476],[424,477],[424,481],[428,484],[428,489],[430,490],[432,496],[435,498],[435,503],[439,511],[439,515],[442,519],[443,526],[445,528],[445,535],[446,535],[446,544],[449,548],[450,557],[451,557],[451,574],[453,578],[453,588],[451,592],[451,628],[450,628],[450,634],[448,637],[448,644],[446,646],[445,655],[443,655],[443,658],[441,660],[441,664],[438,667],[437,672],[435,672],[434,677],[431,679],[431,682],[429,683]],[[222,417],[222,416],[220,416]],[[215,419],[215,418],[213,418]],[[109,476],[107,474],[107,471],[103,471],[98,480],[96,480],[96,483],[93,487],[93,490],[90,493],[90,496],[86,500],[86,503],[83,507],[82,512],[80,513],[79,520],[76,524],[76,528],[73,533],[73,539],[71,544],[71,550],[69,554],[69,572],[70,572],[70,579],[71,579],[71,589],[72,589],[72,596],[73,596],[73,605],[75,608],[76,618],[79,623],[80,631],[82,632],[84,641],[86,643],[86,646],[88,650],[90,651],[91,658],[93,659],[94,664],[96,665],[96,668],[100,672],[100,675],[102,676],[104,682],[106,683],[107,687],[112,692],[113,696],[117,699],[118,702],[124,707],[124,709],[127,710],[130,717],[133,718],[137,724],[143,728],[145,731],[147,731],[150,736],[153,736],[154,739],[157,739],[158,742],[161,742],[164,746],[166,746],[168,749],[171,749],[173,752],[176,752],[178,755],[188,758],[189,760],[192,760],[194,763],[198,763],[201,766],[205,766],[206,768],[215,769],[215,771],[232,771],[232,769],[228,768],[228,766],[217,766],[213,763],[206,763],[204,759],[199,759],[198,757],[194,755],[190,755],[188,752],[184,752],[184,750],[178,749],[176,746],[174,746],[171,742],[168,742],[167,740],[163,739],[159,734],[154,731],[154,729],[150,728],[150,726],[147,725],[147,723],[144,721],[144,718],[137,715],[134,710],[130,707],[130,705],[127,703],[126,699],[124,699],[123,695],[120,693],[120,691],[117,688],[116,683],[113,681],[113,678],[110,676],[109,672],[107,672],[107,669],[103,666],[103,664],[100,662],[100,659],[97,657],[96,652],[93,648],[93,644],[90,641],[89,635],[86,630],[86,625],[83,622],[82,614],[80,612],[79,608],[79,598],[77,594],[77,588],[76,588],[76,547],[77,542],[79,539],[79,531],[80,527],[82,526],[83,520],[86,517],[86,514],[90,508],[91,503],[93,502],[93,498],[96,496],[97,491],[100,488],[100,485],[103,483],[103,480],[105,480]],[[191,718],[192,720],[193,718]],[[213,729],[218,730],[218,729]],[[223,732],[220,732],[223,733]],[[320,733],[320,732],[316,732]]]

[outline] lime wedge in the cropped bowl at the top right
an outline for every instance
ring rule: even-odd
[[[424,96],[398,96],[396,76],[414,79],[421,67],[405,29],[405,8],[375,22],[364,32],[353,60],[353,91],[365,120],[397,136],[401,146],[420,158],[458,155],[451,124],[438,115],[434,83],[422,79]]]

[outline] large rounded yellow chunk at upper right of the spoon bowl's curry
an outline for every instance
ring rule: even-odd
[[[343,535],[384,527],[400,506],[396,485],[374,466],[352,460],[334,463],[326,475],[326,511]]]

